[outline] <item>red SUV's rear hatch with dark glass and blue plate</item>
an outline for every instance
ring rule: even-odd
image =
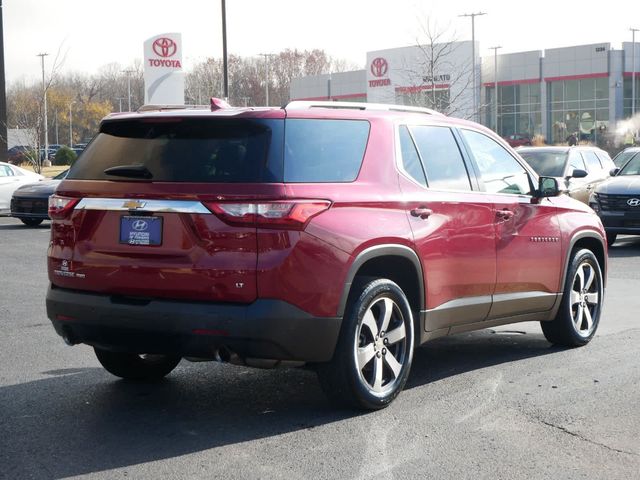
[[[103,121],[50,202],[53,285],[252,302],[257,229],[247,219],[278,208],[261,200],[285,196],[283,118],[271,110]]]

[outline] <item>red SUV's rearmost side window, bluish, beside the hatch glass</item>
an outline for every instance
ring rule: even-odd
[[[286,120],[284,181],[355,180],[368,138],[364,120]]]

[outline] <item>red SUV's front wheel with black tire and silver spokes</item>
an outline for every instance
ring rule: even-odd
[[[598,329],[604,286],[598,259],[591,250],[573,253],[556,318],[540,322],[546,339],[565,347],[579,347],[591,341]]]

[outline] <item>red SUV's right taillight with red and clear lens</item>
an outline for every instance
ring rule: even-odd
[[[274,202],[204,202],[209,210],[232,225],[302,230],[312,217],[331,206],[328,200]]]

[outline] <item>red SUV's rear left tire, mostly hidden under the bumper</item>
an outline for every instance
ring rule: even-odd
[[[181,359],[176,355],[112,352],[101,348],[94,351],[107,372],[127,380],[160,380],[176,368]]]

